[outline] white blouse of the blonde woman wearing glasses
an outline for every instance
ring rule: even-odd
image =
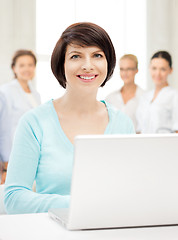
[[[137,86],[135,96],[125,104],[122,98],[121,89],[119,89],[110,93],[106,97],[106,101],[112,104],[115,108],[121,110],[126,115],[128,115],[132,119],[135,129],[137,129],[136,110],[139,99],[143,95],[143,93],[144,90]]]

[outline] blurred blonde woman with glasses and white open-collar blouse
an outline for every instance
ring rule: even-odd
[[[138,72],[138,60],[135,55],[126,54],[120,58],[120,76],[124,82],[121,89],[109,94],[106,101],[127,114],[133,121],[135,128],[136,109],[143,90],[135,84],[135,75]]]

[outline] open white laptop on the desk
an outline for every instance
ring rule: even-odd
[[[75,138],[69,230],[178,224],[178,134]]]

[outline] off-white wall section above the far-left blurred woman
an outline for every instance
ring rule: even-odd
[[[0,0],[0,85],[12,79],[13,53],[19,48],[35,51],[35,0]]]

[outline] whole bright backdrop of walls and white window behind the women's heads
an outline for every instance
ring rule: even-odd
[[[118,60],[127,53],[138,57],[136,83],[150,90],[150,57],[158,50],[169,51],[174,70],[170,85],[178,89],[178,0],[0,0],[0,85],[13,78],[13,53],[26,48],[37,55],[34,85],[42,102],[62,95],[50,56],[65,28],[79,21],[103,27],[116,50],[114,75],[99,90],[99,99],[122,86]]]

